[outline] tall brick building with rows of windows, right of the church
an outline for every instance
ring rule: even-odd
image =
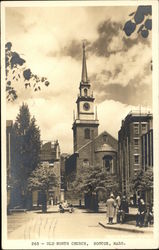
[[[138,171],[153,164],[152,114],[130,112],[118,133],[118,175],[123,193],[133,193],[132,180]],[[148,160],[149,159],[149,160]],[[148,160],[148,161],[147,161]]]

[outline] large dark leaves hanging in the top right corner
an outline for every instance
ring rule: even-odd
[[[152,6],[138,6],[137,10],[129,15],[131,19],[124,25],[123,30],[127,36],[130,36],[138,27],[137,33],[143,38],[147,38],[152,29]]]

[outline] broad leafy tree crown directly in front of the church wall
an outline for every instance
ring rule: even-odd
[[[116,193],[119,188],[116,175],[109,174],[102,170],[100,166],[85,166],[81,176],[76,177],[72,183],[75,192],[95,191],[97,187],[103,187],[109,194],[111,191]]]

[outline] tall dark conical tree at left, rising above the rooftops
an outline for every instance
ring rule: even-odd
[[[31,118],[27,104],[22,104],[13,126],[11,179],[20,203],[25,206],[27,179],[40,162],[40,130],[35,118]],[[23,199],[23,201],[22,201]]]

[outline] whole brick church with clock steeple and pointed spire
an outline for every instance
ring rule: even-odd
[[[82,75],[76,100],[77,114],[73,121],[73,154],[65,162],[67,187],[81,175],[86,166],[100,166],[109,174],[117,173],[118,141],[107,131],[98,134],[99,120],[95,98],[87,75],[85,44],[83,44]],[[103,110],[104,112],[104,110]]]

